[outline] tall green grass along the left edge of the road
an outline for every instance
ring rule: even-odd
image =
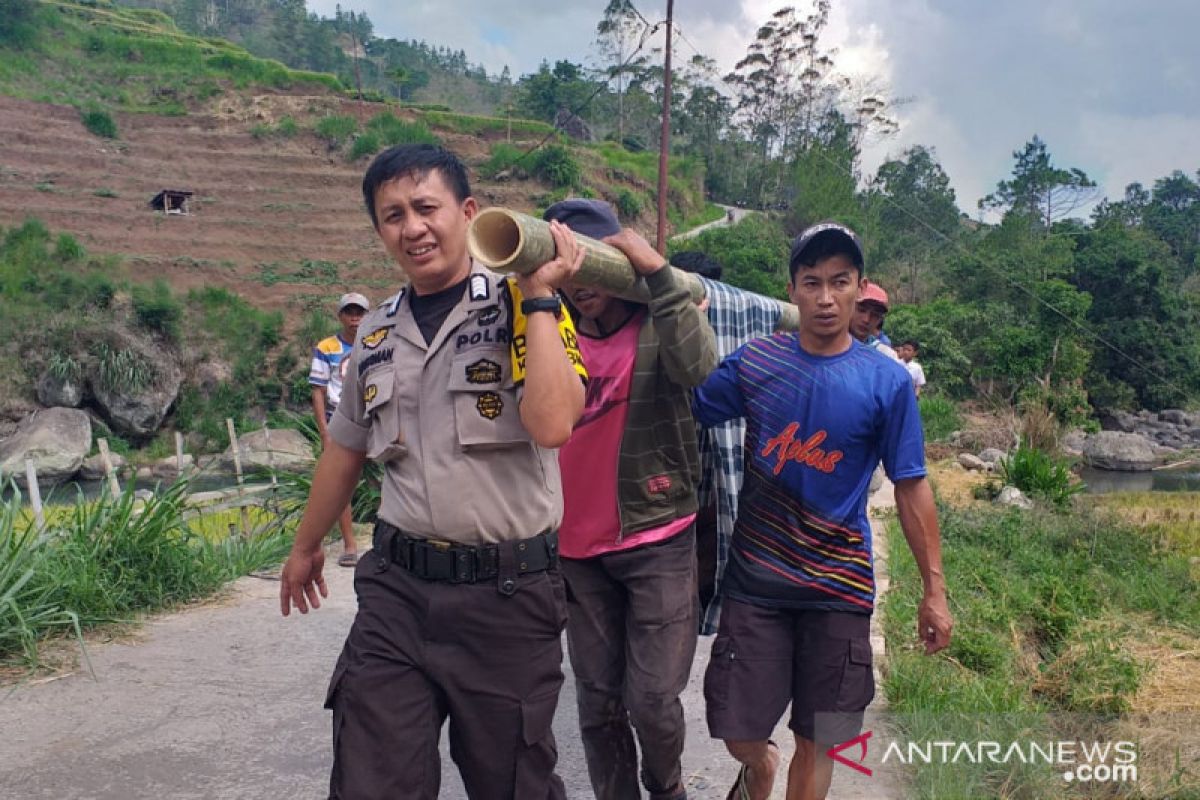
[[[47,636],[205,596],[287,553],[290,534],[276,519],[246,537],[204,535],[186,518],[187,488],[180,481],[143,503],[130,483],[119,498],[49,515],[44,529],[13,489],[0,512],[0,661],[36,663]]]

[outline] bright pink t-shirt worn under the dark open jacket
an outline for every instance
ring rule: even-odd
[[[667,540],[683,531],[696,515],[665,525],[620,535],[617,509],[617,458],[629,416],[629,386],[637,356],[637,332],[646,312],[638,312],[613,333],[590,337],[580,331],[580,351],[588,367],[583,416],[558,451],[563,473],[563,527],[559,553],[586,559]]]

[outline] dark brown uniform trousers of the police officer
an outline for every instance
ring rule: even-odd
[[[551,721],[563,684],[566,597],[557,570],[450,584],[372,551],[354,575],[359,612],[330,681],[331,800],[434,800],[438,739],[472,800],[562,800]]]

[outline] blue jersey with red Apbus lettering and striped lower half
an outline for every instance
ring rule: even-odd
[[[794,332],[746,343],[696,390],[696,420],[745,417],[745,481],[724,591],[787,608],[869,614],[875,602],[866,495],[925,475],[907,371],[853,342],[834,356]]]

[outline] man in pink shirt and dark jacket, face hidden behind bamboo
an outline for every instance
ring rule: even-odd
[[[622,229],[607,203],[564,200],[545,218],[618,247],[649,288],[642,305],[564,285],[589,378],[583,416],[559,451],[559,554],[595,796],[642,796],[636,734],[652,800],[677,800],[686,798],[679,694],[698,631],[690,389],[716,366],[716,342],[666,259]]]

